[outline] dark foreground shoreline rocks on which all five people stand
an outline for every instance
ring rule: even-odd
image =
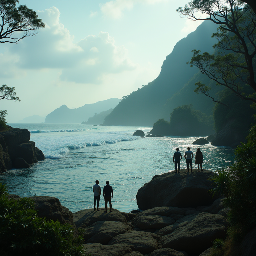
[[[211,242],[226,236],[229,211],[223,198],[208,193],[212,175],[186,169],[155,175],[138,190],[137,204],[144,211],[136,213],[104,213],[103,208],[72,213],[58,198],[31,198],[40,217],[71,224],[74,235],[82,229],[83,247],[91,256],[207,256]],[[238,245],[239,255],[253,255],[255,232],[251,230]]]

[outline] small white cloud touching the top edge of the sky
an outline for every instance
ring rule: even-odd
[[[155,4],[166,0],[115,0],[100,5],[100,10],[105,18],[120,19],[125,10],[131,10],[134,4]]]

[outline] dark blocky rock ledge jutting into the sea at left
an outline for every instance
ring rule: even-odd
[[[27,129],[12,128],[0,131],[0,173],[14,168],[27,168],[45,159],[42,151],[30,141]]]

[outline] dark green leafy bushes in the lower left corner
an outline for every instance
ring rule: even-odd
[[[59,221],[39,218],[30,198],[9,199],[0,183],[1,255],[84,255],[81,235]]]

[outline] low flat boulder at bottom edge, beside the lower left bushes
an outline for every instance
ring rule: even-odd
[[[83,244],[85,253],[91,256],[120,256],[132,252],[126,244],[102,245],[100,243]]]

